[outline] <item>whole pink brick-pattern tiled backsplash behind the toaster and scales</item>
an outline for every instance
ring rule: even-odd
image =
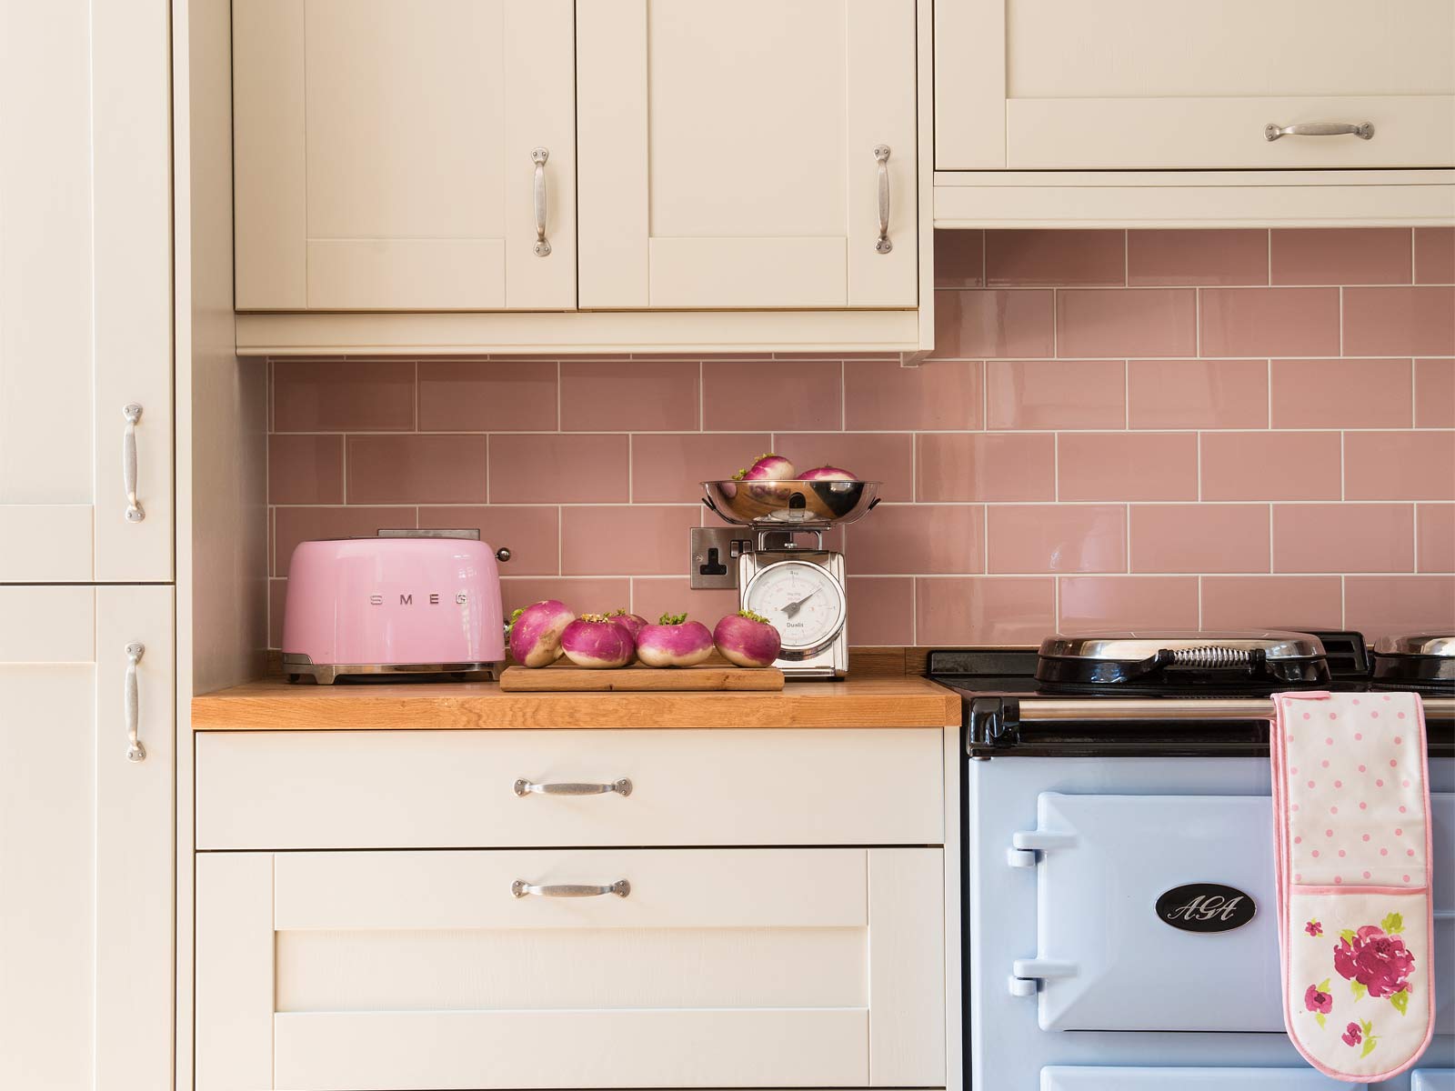
[[[1455,617],[1455,231],[940,231],[937,252],[917,367],[269,362],[271,642],[292,546],[380,527],[477,527],[511,550],[506,608],[711,623],[736,595],[688,588],[687,531],[717,522],[698,481],[770,449],[883,481],[829,535],[856,644]]]

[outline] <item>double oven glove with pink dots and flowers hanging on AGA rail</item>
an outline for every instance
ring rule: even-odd
[[[1429,1046],[1430,807],[1416,694],[1273,698],[1275,867],[1289,1037],[1336,1079]]]

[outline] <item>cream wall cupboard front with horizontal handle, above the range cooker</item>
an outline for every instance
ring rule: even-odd
[[[938,170],[1452,164],[1449,0],[936,3]]]

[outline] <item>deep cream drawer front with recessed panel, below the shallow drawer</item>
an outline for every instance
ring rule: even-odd
[[[927,848],[204,855],[198,1088],[940,1084],[941,874]]]

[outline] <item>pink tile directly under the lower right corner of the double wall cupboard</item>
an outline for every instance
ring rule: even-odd
[[[981,428],[981,362],[925,361],[917,368],[898,359],[844,364],[844,428],[966,429]]]

